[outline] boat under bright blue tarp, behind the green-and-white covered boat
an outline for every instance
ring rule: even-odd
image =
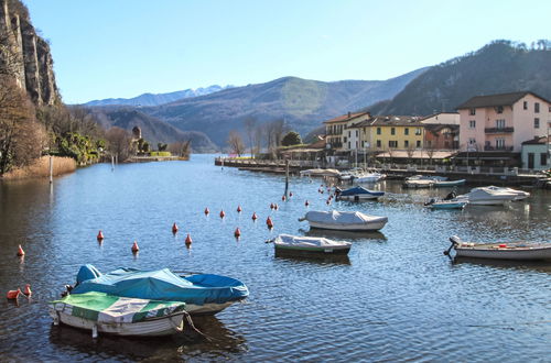
[[[118,268],[101,274],[93,265],[80,267],[71,294],[100,292],[115,296],[186,302],[191,315],[214,315],[245,299],[249,289],[240,280],[214,274],[179,276],[169,268]]]

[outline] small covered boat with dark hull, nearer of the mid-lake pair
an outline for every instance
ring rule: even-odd
[[[350,251],[352,243],[317,237],[280,234],[273,240],[273,246],[277,254],[345,255]]]

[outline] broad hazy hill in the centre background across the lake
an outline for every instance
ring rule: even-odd
[[[324,120],[392,98],[424,70],[388,80],[324,82],[283,77],[140,110],[181,130],[204,132],[225,146],[229,131],[242,131],[247,117],[259,123],[284,119],[290,129],[306,134]]]

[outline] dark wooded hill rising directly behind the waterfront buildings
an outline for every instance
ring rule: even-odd
[[[540,41],[528,50],[509,41],[493,42],[479,51],[457,57],[413,79],[392,100],[366,109],[379,114],[431,114],[453,111],[468,98],[531,90],[551,98],[551,47]]]

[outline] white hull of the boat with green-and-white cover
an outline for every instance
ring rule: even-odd
[[[61,311],[50,309],[50,316],[54,319],[54,324],[64,323],[78,329],[98,333],[122,336],[122,337],[163,337],[182,332],[184,329],[184,312],[174,314],[168,317],[153,318],[140,322],[108,323],[74,317]]]

